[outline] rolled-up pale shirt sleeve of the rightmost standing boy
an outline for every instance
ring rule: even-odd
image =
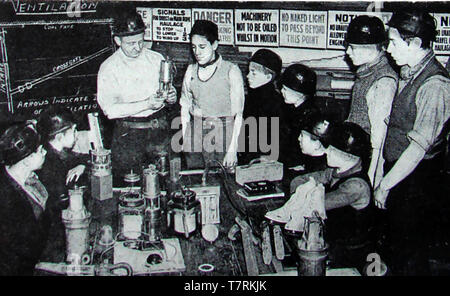
[[[443,76],[429,78],[416,96],[416,120],[408,138],[428,151],[450,117],[450,79]]]

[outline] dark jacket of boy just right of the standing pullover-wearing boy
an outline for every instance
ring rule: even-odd
[[[250,135],[249,128],[246,127],[245,130],[245,151],[239,154],[239,163],[248,164],[252,159],[258,158],[262,155],[270,155],[271,151],[263,152],[261,151],[261,132],[267,132],[266,139],[262,139],[263,145],[268,145],[271,149],[275,149],[274,143],[271,143],[272,135],[278,138],[278,143],[280,141],[279,125],[282,114],[283,96],[276,90],[273,83],[267,83],[256,89],[250,89],[248,91],[248,96],[245,100],[244,106],[244,121],[249,117],[254,117],[258,126],[257,131],[253,131]],[[278,127],[272,129],[272,117],[278,118]],[[262,126],[260,118],[267,118],[267,127]],[[275,123],[275,122],[274,122]],[[244,134],[242,134],[244,136]],[[250,138],[256,140],[257,151],[249,151]]]

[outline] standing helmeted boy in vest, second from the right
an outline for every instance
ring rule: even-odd
[[[385,56],[386,31],[383,22],[367,15],[354,18],[347,29],[346,53],[356,70],[352,102],[347,121],[370,135],[372,157],[369,178],[377,186],[383,177],[382,150],[392,100],[397,91],[397,73]]]

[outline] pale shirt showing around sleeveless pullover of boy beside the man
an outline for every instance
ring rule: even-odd
[[[221,62],[222,57],[219,57],[217,62],[204,68],[204,70],[206,70],[206,74],[211,74],[206,76],[214,75],[216,68],[220,65]],[[193,73],[193,68],[194,68],[193,65],[189,65],[184,75],[183,87],[180,97],[180,105],[181,108],[189,110],[191,115],[198,117],[208,117],[208,114],[203,114],[202,110],[197,108],[196,105],[192,103],[194,98],[191,92],[190,82],[192,75],[196,75],[195,73]],[[242,114],[245,102],[244,80],[242,78],[241,71],[236,65],[233,65],[231,67],[228,74],[228,78],[231,85],[230,89],[231,114],[233,115]],[[211,90],[211,92],[214,93],[214,90]]]

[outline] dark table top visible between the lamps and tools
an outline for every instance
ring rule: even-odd
[[[185,177],[185,176],[184,176]],[[200,184],[201,176],[187,176],[189,180],[185,180],[187,187]],[[184,235],[176,233],[173,229],[167,228],[166,223],[162,223],[162,236],[164,239],[176,238],[179,241],[182,257],[184,260],[185,270],[182,272],[170,272],[166,274],[196,276],[202,275],[199,270],[201,265],[206,267],[213,267],[211,272],[218,276],[240,276],[247,275],[245,257],[243,252],[243,245],[241,235],[236,235],[234,240],[228,238],[228,232],[236,224],[235,218],[239,216],[245,219],[252,227],[255,237],[258,237],[260,223],[264,220],[264,214],[268,210],[275,209],[284,203],[284,198],[271,198],[258,201],[247,201],[236,194],[239,185],[234,182],[234,175],[229,175],[228,187],[225,188],[225,182],[219,176],[208,177],[208,184],[220,185],[220,224],[218,224],[219,235],[214,242],[208,242],[203,239],[200,227],[190,234],[189,238]],[[228,190],[226,190],[228,189]],[[230,193],[227,196],[226,192]],[[92,220],[89,226],[91,245],[98,241],[98,235],[103,225],[110,225],[113,233],[117,233],[118,229],[118,212],[117,201],[120,192],[114,192],[114,197],[109,200],[97,201],[90,197],[85,197],[85,205],[87,210],[92,215]],[[247,217],[242,216],[243,212]],[[65,234],[64,225],[62,223],[55,223],[54,230],[51,231],[49,238],[49,246],[44,252],[43,261],[47,262],[64,262],[65,261]],[[176,240],[175,240],[176,241]],[[266,265],[262,261],[261,247],[254,247],[259,274],[276,272],[273,265]],[[105,252],[96,255],[92,252],[93,263],[98,264],[106,260],[108,263],[114,263],[114,250],[106,250]],[[41,260],[42,261],[42,260]],[[206,264],[206,265],[204,265]],[[41,273],[41,272],[39,272]],[[45,274],[45,273],[44,273]]]

